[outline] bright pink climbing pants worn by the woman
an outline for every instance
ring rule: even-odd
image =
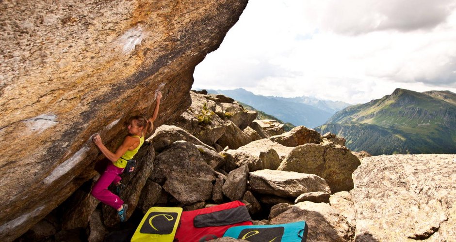
[[[119,175],[122,174],[123,171],[124,168],[119,168],[117,166],[114,166],[112,163],[109,163],[108,167],[106,167],[106,170],[103,172],[103,174],[101,174],[100,178],[92,188],[92,196],[116,210],[119,209],[120,206],[124,204],[124,201],[122,201],[119,196],[109,191],[108,186],[111,183],[116,184],[119,182],[122,179]]]

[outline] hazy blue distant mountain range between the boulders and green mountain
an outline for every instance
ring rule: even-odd
[[[304,125],[309,128],[317,127],[326,122],[334,113],[350,104],[313,97],[275,97],[256,95],[242,88],[234,90],[207,90],[208,93],[229,96],[257,110],[273,115],[294,126]]]

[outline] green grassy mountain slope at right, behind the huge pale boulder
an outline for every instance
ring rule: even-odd
[[[396,89],[337,112],[316,130],[342,136],[351,150],[373,155],[456,153],[456,94]]]

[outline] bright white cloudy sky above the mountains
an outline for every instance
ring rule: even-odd
[[[366,103],[456,93],[456,0],[249,0],[194,89]]]

